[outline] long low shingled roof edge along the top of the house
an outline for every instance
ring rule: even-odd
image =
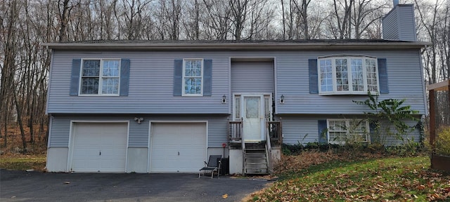
[[[56,50],[309,50],[309,49],[409,49],[430,45],[422,41],[383,39],[311,40],[98,40],[43,43]]]

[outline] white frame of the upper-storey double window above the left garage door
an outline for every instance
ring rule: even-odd
[[[82,82],[83,82],[83,64],[84,60],[100,60],[100,72],[98,74],[98,92],[97,94],[83,94],[82,93]],[[119,62],[119,76],[103,76],[103,62],[117,60]],[[119,96],[120,95],[120,71],[121,71],[121,59],[120,58],[83,58],[81,62],[81,67],[79,68],[79,83],[78,83],[78,95],[79,96]],[[117,77],[119,79],[119,83],[117,84],[118,90],[115,94],[103,94],[103,78],[112,78]]]

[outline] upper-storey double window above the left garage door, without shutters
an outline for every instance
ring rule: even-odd
[[[119,95],[120,60],[82,60],[80,95]]]

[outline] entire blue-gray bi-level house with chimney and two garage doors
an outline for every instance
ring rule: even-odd
[[[361,119],[368,91],[425,114],[413,6],[383,23],[381,40],[47,43],[46,169],[195,173],[221,154],[267,173],[281,143],[342,143],[333,126]]]

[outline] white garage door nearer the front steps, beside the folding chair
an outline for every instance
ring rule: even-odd
[[[150,172],[195,173],[206,156],[206,123],[152,123]]]

